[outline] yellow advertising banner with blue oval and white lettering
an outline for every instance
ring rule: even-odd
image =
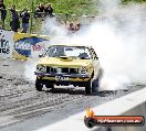
[[[50,36],[36,34],[14,34],[13,58],[27,61],[29,57],[38,57],[50,44]]]

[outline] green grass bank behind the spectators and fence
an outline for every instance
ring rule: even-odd
[[[33,1],[33,4],[32,4]],[[112,1],[112,0],[111,0]],[[128,2],[146,2],[146,0],[123,0],[123,3],[126,4]],[[65,14],[76,14],[76,17],[69,17],[69,21],[76,20],[80,15],[87,14],[87,15],[94,15],[98,13],[97,10],[97,3],[98,0],[4,0],[4,4],[7,8],[10,8],[11,6],[15,4],[18,10],[23,10],[27,8],[28,10],[32,11],[35,10],[36,6],[39,3],[52,3],[52,7],[54,9],[54,13],[63,13],[60,15],[60,18],[65,21]],[[33,7],[33,8],[32,8]],[[8,11],[6,26],[9,30],[10,29],[10,11]],[[33,31],[39,31],[39,26],[41,24],[41,21],[33,20]]]

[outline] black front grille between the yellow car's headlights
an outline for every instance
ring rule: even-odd
[[[79,74],[79,68],[46,67],[46,73]]]

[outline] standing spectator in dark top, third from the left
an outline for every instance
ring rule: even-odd
[[[30,14],[27,9],[22,11],[20,18],[22,18],[22,29],[23,29],[22,33],[27,33],[29,29],[29,19],[30,19]]]

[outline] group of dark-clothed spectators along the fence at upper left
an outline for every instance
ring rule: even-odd
[[[17,7],[12,6],[10,10],[11,13],[11,20],[10,20],[10,28],[12,31],[18,32],[18,30],[22,26],[22,33],[27,33],[28,29],[29,29],[29,23],[30,23],[30,12],[27,9],[23,9],[22,11],[17,11]],[[7,12],[8,9],[6,8],[3,0],[0,0],[0,14],[1,14],[1,29],[4,29],[4,21],[7,18]],[[45,4],[43,6],[42,3],[40,3],[36,9],[35,12],[32,12],[32,14],[34,14],[34,18],[46,18],[53,17],[53,8],[52,6]]]

